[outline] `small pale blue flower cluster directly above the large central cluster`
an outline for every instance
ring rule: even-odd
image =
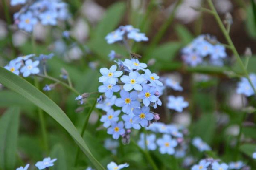
[[[132,39],[136,42],[148,41],[148,37],[146,37],[144,33],[140,33],[139,29],[134,28],[131,25],[119,26],[115,31],[109,33],[105,39],[108,44],[113,44],[127,39]]]

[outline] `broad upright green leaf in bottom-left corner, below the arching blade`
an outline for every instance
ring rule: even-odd
[[[0,168],[15,168],[19,128],[19,108],[9,108],[0,119]]]

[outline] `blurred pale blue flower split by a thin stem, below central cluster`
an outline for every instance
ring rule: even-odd
[[[157,144],[156,142],[156,135],[155,134],[150,134],[146,136],[146,142],[145,142],[145,136],[144,133],[140,133],[140,140],[138,141],[138,145],[145,149],[145,144],[147,146],[148,150],[156,150],[157,149]]]

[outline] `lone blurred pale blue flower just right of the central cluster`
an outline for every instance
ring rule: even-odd
[[[168,96],[168,103],[167,107],[169,109],[173,109],[177,112],[182,112],[183,108],[186,108],[189,106],[189,103],[184,101],[183,96]]]

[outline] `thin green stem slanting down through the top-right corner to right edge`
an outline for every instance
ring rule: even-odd
[[[252,81],[251,81],[251,79],[249,77],[249,74],[248,74],[248,72],[247,72],[247,70],[246,70],[246,68],[244,66],[244,63],[242,62],[242,60],[241,60],[241,58],[240,58],[240,56],[239,56],[239,54],[238,54],[238,52],[236,50],[236,47],[235,47],[235,45],[233,44],[233,41],[230,38],[230,35],[228,34],[224,24],[222,23],[221,18],[219,17],[219,15],[218,15],[218,13],[217,13],[217,11],[216,11],[213,3],[212,3],[212,0],[207,0],[207,1],[208,1],[208,4],[209,4],[209,7],[214,12],[213,15],[215,17],[215,20],[217,21],[219,27],[221,28],[221,31],[224,34],[224,37],[226,38],[226,40],[227,40],[227,42],[228,42],[228,44],[230,46],[230,49],[233,51],[233,54],[236,57],[236,60],[239,62],[239,65],[241,66],[241,69],[244,72],[244,76],[248,79],[250,85],[253,88],[254,94],[256,94],[256,89],[255,89],[255,87],[254,87],[254,85],[253,85],[253,83],[252,83]]]

